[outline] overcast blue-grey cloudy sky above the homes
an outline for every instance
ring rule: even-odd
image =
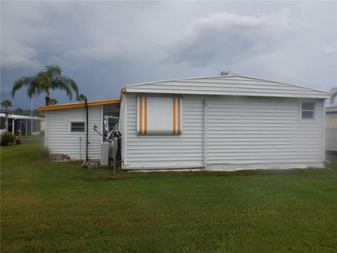
[[[25,90],[9,95],[13,82],[52,64],[89,100],[222,70],[329,91],[337,2],[1,1],[1,100],[29,108]],[[62,91],[51,96],[69,102]]]

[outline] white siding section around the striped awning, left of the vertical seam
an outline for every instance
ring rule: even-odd
[[[193,96],[183,97],[181,136],[138,136],[136,95],[127,95],[126,164],[132,166],[202,165],[203,104]],[[127,167],[126,167],[127,168]]]

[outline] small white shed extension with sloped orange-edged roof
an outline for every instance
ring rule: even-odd
[[[42,106],[45,115],[45,146],[51,154],[72,160],[100,159],[104,115],[119,115],[119,99]],[[97,126],[98,134],[93,130]],[[86,145],[88,143],[88,145]]]

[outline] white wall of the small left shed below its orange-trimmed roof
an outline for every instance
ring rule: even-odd
[[[70,121],[86,122],[86,108],[69,108],[48,110],[45,112],[46,133],[45,145],[52,154],[67,154],[74,160],[86,159],[86,133],[70,133]],[[88,157],[100,159],[100,143],[102,136],[93,130],[98,126],[102,133],[103,106],[88,107]],[[80,140],[81,138],[81,140]]]

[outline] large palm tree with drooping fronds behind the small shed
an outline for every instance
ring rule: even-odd
[[[58,65],[49,65],[33,77],[22,77],[14,82],[11,95],[23,86],[27,87],[27,95],[30,99],[39,96],[40,93],[46,94],[46,105],[51,105],[51,90],[60,89],[67,92],[67,96],[72,100],[73,91],[79,94],[79,87],[73,79],[63,76],[62,70]]]

